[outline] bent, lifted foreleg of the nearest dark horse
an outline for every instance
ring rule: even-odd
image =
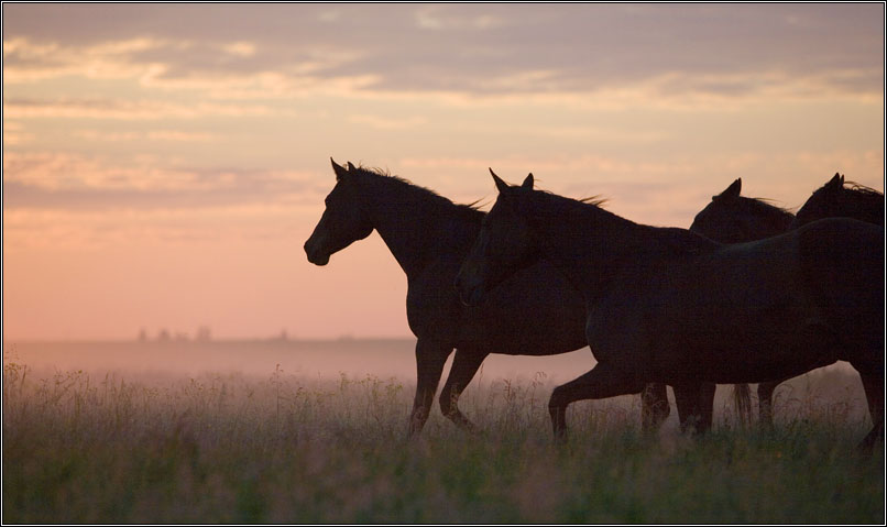
[[[555,439],[561,440],[567,433],[567,406],[570,403],[637,394],[644,389],[644,384],[631,372],[598,363],[584,375],[556,387],[548,400],[548,414],[551,416]]]

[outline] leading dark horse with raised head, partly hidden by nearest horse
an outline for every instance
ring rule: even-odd
[[[428,418],[443,364],[456,349],[440,393],[440,409],[460,428],[477,427],[458,399],[490,353],[554,355],[588,345],[584,303],[548,263],[539,262],[503,283],[482,305],[459,301],[453,278],[485,213],[406,179],[338,165],[326,210],[305,242],[308,261],[330,255],[377,231],[407,277],[406,315],[416,336],[416,394],[408,433]],[[642,394],[644,427],[658,427],[670,411],[665,391]]]

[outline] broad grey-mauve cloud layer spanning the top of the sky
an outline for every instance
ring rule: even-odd
[[[878,4],[9,4],[4,15],[4,85],[79,75],[256,99],[884,89]]]

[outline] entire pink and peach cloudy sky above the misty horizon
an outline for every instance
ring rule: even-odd
[[[3,338],[406,337],[329,157],[689,227],[736,177],[884,189],[884,4],[3,4]],[[370,279],[366,279],[366,278]]]

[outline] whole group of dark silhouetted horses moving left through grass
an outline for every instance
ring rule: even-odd
[[[555,436],[576,400],[642,395],[644,430],[668,417],[672,387],[681,429],[712,424],[715,384],[734,384],[746,415],[758,383],[771,419],[782,381],[842,360],[859,373],[873,428],[884,438],[884,195],[835,174],[797,215],[741,196],[736,179],[690,229],[638,224],[601,207],[491,175],[490,212],[406,179],[330,160],[336,185],[305,242],[308,261],[373,230],[407,276],[416,336],[409,433],[439,396],[442,414],[475,426],[459,395],[490,353],[551,355],[590,347],[595,366],[555,388]]]

